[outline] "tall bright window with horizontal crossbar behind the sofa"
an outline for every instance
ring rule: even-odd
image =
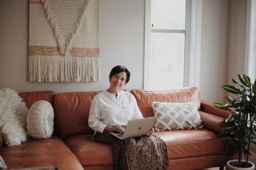
[[[190,20],[189,1],[146,0],[144,89],[164,91],[190,85],[184,79],[193,69],[189,68]]]

